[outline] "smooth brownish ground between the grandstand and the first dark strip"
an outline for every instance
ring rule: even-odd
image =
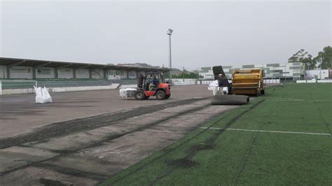
[[[53,103],[36,104],[34,94],[0,96],[0,138],[24,134],[36,127],[54,122],[63,122],[103,113],[113,113],[140,106],[169,103],[194,97],[212,96],[207,85],[172,87],[169,100],[146,101],[119,98],[118,90],[98,90],[85,92],[62,92],[51,94]]]

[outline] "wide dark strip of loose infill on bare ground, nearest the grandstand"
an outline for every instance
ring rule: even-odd
[[[106,113],[103,115],[96,115],[92,117],[85,117],[76,120],[69,120],[66,122],[56,122],[48,124],[44,127],[39,127],[35,131],[28,134],[22,134],[20,136],[14,136],[10,138],[3,138],[0,140],[0,149],[8,148],[13,145],[20,145],[23,143],[28,143],[32,141],[41,141],[47,138],[53,138],[56,136],[62,136],[65,134],[71,134],[78,131],[96,129],[98,127],[106,126],[112,122],[119,120],[124,120],[129,117],[135,117],[138,115],[143,115],[146,113],[153,113],[163,110],[165,108],[170,108],[174,106],[186,105],[188,103],[193,103],[195,101],[200,101],[202,99],[185,99],[181,101],[173,101],[170,103],[164,103],[156,106],[143,106],[139,108],[134,108],[132,110],[125,110],[116,113]]]

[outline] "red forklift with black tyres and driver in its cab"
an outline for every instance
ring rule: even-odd
[[[137,78],[137,91],[134,94],[134,98],[144,100],[150,96],[155,96],[158,100],[169,99],[171,96],[170,90],[170,83],[164,83],[160,71],[148,72],[146,76],[140,75]]]

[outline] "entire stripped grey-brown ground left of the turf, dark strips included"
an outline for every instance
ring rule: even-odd
[[[211,106],[206,85],[172,87],[165,101],[123,101],[118,90],[0,96],[0,185],[95,185],[235,106]],[[200,98],[198,98],[200,97]]]

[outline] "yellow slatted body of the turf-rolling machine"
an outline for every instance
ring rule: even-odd
[[[247,69],[233,71],[231,94],[260,96],[264,92],[262,69]]]

